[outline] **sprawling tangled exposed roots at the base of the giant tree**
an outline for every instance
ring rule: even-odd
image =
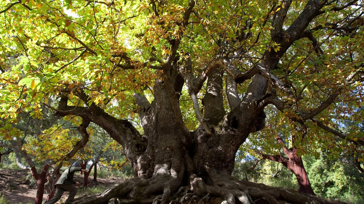
[[[238,181],[226,175],[220,175],[219,181],[212,177],[214,185],[205,184],[195,175],[190,178],[190,186],[182,186],[174,193],[166,186],[169,182],[157,186],[153,178],[131,178],[103,193],[76,198],[72,204],[343,204],[284,188]],[[163,193],[156,195],[158,192]]]

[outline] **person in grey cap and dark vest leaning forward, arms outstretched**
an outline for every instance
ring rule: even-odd
[[[76,182],[73,180],[73,176],[75,172],[87,172],[87,169],[81,169],[80,163],[76,161],[73,163],[73,165],[65,170],[61,177],[57,180],[55,187],[56,187],[56,193],[54,197],[49,200],[47,203],[44,204],[54,204],[56,203],[61,196],[63,195],[64,191],[69,191],[70,195],[68,196],[66,200],[66,204],[72,203],[76,193],[77,189],[74,184]]]

